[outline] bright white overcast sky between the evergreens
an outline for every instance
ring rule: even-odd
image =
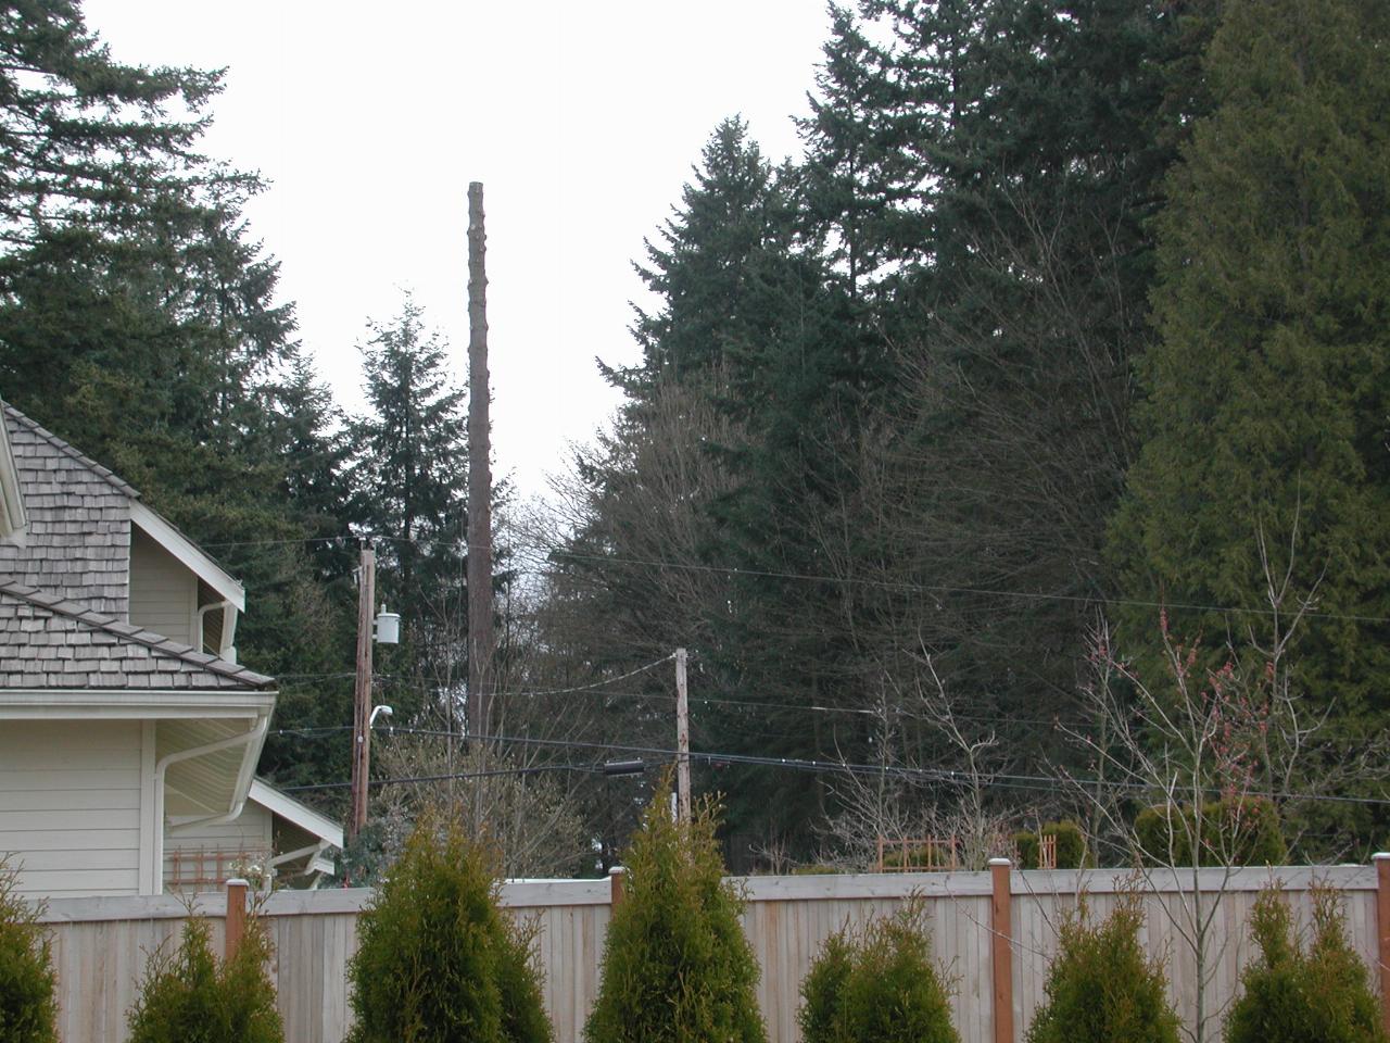
[[[821,0],[86,0],[131,64],[227,67],[204,152],[260,171],[254,238],[339,405],[410,291],[467,370],[467,186],[484,182],[493,474],[545,490],[635,362],[632,271],[714,125],[771,160],[821,60]],[[648,302],[649,303],[649,302]]]

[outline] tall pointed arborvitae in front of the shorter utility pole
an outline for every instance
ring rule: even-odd
[[[714,808],[671,819],[663,783],[632,836],[621,904],[603,944],[588,1043],[766,1043],[758,961],[724,882]]]

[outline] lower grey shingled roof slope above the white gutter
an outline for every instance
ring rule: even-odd
[[[0,688],[264,691],[275,684],[245,666],[3,576],[0,644]]]

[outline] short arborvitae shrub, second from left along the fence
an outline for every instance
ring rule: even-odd
[[[190,916],[178,948],[150,957],[129,1043],[284,1043],[268,961],[270,937],[254,916],[236,954],[221,964],[207,921]]]

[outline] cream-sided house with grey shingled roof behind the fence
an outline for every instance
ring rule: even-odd
[[[236,663],[245,590],[108,469],[3,412],[0,855],[19,891],[158,894],[203,882],[210,850],[322,871],[334,823],[253,779],[275,684]]]

